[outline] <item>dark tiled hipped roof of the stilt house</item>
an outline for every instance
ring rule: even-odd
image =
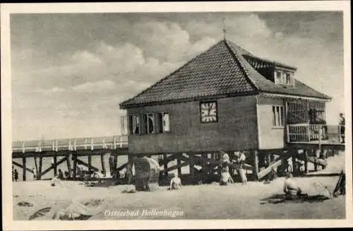
[[[259,92],[330,99],[297,80],[294,87],[276,85],[253,69],[244,55],[253,56],[233,42],[221,40],[120,107]]]

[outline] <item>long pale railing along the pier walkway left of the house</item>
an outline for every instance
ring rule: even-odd
[[[44,150],[96,150],[128,146],[128,136],[100,136],[90,138],[61,138],[53,140],[13,141],[12,151],[19,153]]]

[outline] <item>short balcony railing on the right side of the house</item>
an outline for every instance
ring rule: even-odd
[[[330,143],[341,143],[344,136],[345,126],[326,124],[288,124],[287,142],[302,143],[322,141]]]

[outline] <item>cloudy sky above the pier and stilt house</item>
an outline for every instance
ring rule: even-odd
[[[296,66],[344,112],[340,12],[11,14],[14,141],[120,134],[119,103],[222,40]]]

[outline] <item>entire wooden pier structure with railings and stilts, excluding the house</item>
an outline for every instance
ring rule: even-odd
[[[328,132],[330,131],[330,132]],[[284,148],[273,150],[246,150],[246,170],[251,171],[251,179],[264,179],[273,168],[280,167],[283,163],[292,158],[292,168],[296,168],[299,162],[305,162],[305,172],[308,170],[308,162],[313,162],[315,170],[318,166],[325,167],[326,153],[338,153],[338,150],[345,150],[345,144],[340,143],[341,134],[339,126],[328,125],[307,125],[293,124],[287,125],[287,143]],[[301,153],[299,153],[301,151]],[[237,150],[219,150],[187,153],[129,153],[128,136],[107,136],[92,138],[68,138],[42,141],[15,141],[13,142],[12,158],[22,158],[23,164],[12,161],[13,165],[23,170],[23,181],[26,180],[26,172],[33,173],[28,168],[26,160],[34,158],[37,179],[50,171],[57,173],[58,165],[66,162],[68,177],[76,176],[77,165],[88,168],[88,172],[99,172],[105,174],[107,170],[104,164],[104,155],[114,156],[115,169],[120,171],[128,165],[133,165],[133,158],[136,156],[158,156],[158,162],[163,170],[162,177],[168,177],[168,173],[177,170],[181,175],[181,167],[189,166],[189,176],[187,182],[212,181],[213,177],[220,176],[220,163],[222,154],[227,153],[231,160],[236,160]],[[100,155],[102,167],[98,169],[92,166],[92,156]],[[127,161],[117,166],[117,159],[121,155],[127,156]],[[52,165],[45,170],[42,169],[43,158],[53,158]],[[88,157],[85,162],[80,157]],[[58,161],[57,158],[60,158]],[[37,164],[37,160],[39,160]],[[177,160],[177,164],[169,166],[169,162]],[[71,162],[72,161],[72,162]],[[234,177],[237,164],[229,164]],[[72,170],[72,172],[71,172]]]

